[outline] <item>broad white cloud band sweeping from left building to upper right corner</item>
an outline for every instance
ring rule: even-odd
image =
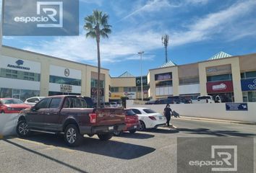
[[[246,14],[255,9],[256,1],[242,1],[229,6],[219,12],[208,14],[205,17],[196,19],[193,23],[187,25],[185,30],[169,31],[171,47],[185,45],[188,43],[200,42],[202,40],[213,39],[216,35],[240,39],[247,37],[244,31],[250,31],[252,34],[255,27],[237,25],[237,20],[241,20]],[[152,59],[154,56],[146,56],[146,53],[162,48],[161,36],[166,30],[156,32],[153,30],[154,22],[141,27],[126,29],[121,32],[113,32],[108,40],[101,40],[101,58],[105,62],[125,61],[139,58],[137,52],[144,50],[143,58]],[[232,27],[232,30],[229,30]],[[254,25],[255,26],[255,25]],[[151,29],[152,28],[152,29]],[[237,35],[233,35],[233,33]],[[238,33],[240,33],[238,35]],[[97,60],[97,51],[95,40],[85,38],[85,33],[78,37],[56,37],[51,42],[41,42],[37,48],[26,47],[39,53],[45,53],[59,58],[66,58],[73,61],[90,61],[95,63]]]

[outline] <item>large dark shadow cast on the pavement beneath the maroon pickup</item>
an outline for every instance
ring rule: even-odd
[[[48,146],[57,146],[69,148],[64,142],[63,136],[51,134],[38,134],[26,138],[28,141],[43,143]],[[122,141],[100,141],[98,138],[83,138],[80,146],[69,148],[74,151],[83,151],[92,154],[110,156],[117,159],[136,159],[155,151],[155,148],[147,146],[139,146],[132,143],[124,143]]]

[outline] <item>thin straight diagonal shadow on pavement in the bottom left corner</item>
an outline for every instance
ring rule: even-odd
[[[76,172],[87,173],[87,172],[83,171],[82,169],[79,169],[79,168],[77,168],[77,167],[74,167],[74,166],[72,166],[72,165],[70,165],[70,164],[67,164],[67,163],[63,162],[63,161],[59,161],[58,159],[54,159],[54,158],[51,157],[51,156],[46,156],[45,154],[41,154],[41,153],[39,153],[38,151],[34,151],[33,149],[27,148],[27,147],[25,147],[25,146],[21,146],[20,144],[14,143],[13,141],[9,141],[8,139],[4,139],[3,141],[5,141],[5,142],[7,142],[7,143],[9,143],[9,144],[12,144],[12,145],[14,145],[14,146],[17,146],[17,147],[19,147],[19,148],[22,148],[22,149],[24,149],[25,151],[29,151],[29,152],[31,152],[31,153],[33,153],[33,154],[37,154],[38,156],[42,156],[42,157],[44,157],[44,158],[46,158],[46,159],[49,159],[49,160],[51,160],[51,161],[55,161],[56,163],[62,164],[62,165],[64,165],[64,166],[66,166],[66,167],[69,167],[70,169],[74,169],[74,171],[76,171]]]

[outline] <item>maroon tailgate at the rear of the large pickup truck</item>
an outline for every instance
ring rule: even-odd
[[[97,125],[116,125],[125,123],[123,108],[98,108],[95,109]]]

